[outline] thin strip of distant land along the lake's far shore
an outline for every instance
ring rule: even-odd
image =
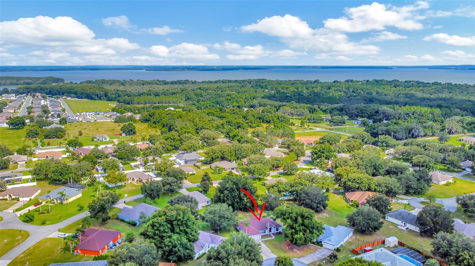
[[[19,71],[237,71],[271,69],[394,69],[425,68],[446,70],[475,70],[475,65],[434,65],[434,66],[0,66],[0,72]]]

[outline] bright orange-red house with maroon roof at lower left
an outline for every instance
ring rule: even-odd
[[[92,256],[101,255],[121,237],[122,232],[120,231],[86,228],[81,235],[81,242],[74,248],[74,252]]]

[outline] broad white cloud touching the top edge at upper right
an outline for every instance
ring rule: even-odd
[[[418,20],[423,19],[414,11],[427,9],[428,3],[418,1],[415,5],[394,7],[373,2],[371,5],[347,8],[347,16],[329,18],[323,21],[324,27],[344,32],[363,32],[383,30],[385,27],[397,27],[405,30],[422,29],[424,26]]]

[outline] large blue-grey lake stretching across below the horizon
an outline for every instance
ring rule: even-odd
[[[443,70],[424,68],[394,69],[266,69],[234,71],[18,71],[0,72],[1,76],[47,77],[66,81],[84,80],[419,80],[475,84],[474,70]]]

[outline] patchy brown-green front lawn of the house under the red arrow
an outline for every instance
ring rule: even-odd
[[[286,238],[284,237],[284,234],[277,234],[275,236],[275,239],[269,239],[263,242],[277,256],[301,257],[320,249],[310,244],[306,244],[300,247],[292,245],[287,249],[287,245],[285,245],[285,240]]]

